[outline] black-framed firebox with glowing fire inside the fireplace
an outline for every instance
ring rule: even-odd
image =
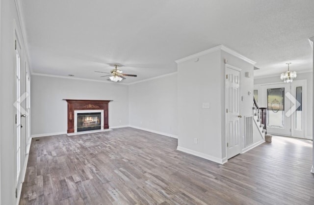
[[[78,132],[101,129],[101,112],[78,113]]]

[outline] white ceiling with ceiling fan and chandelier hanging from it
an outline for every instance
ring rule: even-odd
[[[23,0],[33,74],[124,83],[177,71],[175,60],[223,44],[255,77],[313,68],[313,0]]]

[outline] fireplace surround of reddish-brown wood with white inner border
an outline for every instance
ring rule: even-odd
[[[108,101],[104,100],[70,100],[64,99],[68,103],[68,133],[77,132],[78,113],[101,113],[101,127],[100,129],[109,128],[108,123]],[[76,121],[76,122],[75,122]],[[76,123],[76,124],[75,124]]]

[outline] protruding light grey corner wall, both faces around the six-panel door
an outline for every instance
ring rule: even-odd
[[[225,59],[241,69],[242,116],[252,115],[253,77],[245,77],[245,72],[253,76],[253,65],[216,48],[207,54],[201,52],[200,56],[179,60],[178,150],[223,163],[226,161]],[[248,95],[249,92],[252,94]],[[203,103],[209,103],[210,108],[202,108]],[[243,141],[244,118],[240,126]],[[241,146],[244,148],[244,143]]]

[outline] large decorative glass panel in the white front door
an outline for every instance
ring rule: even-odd
[[[285,88],[267,89],[267,126],[285,127]]]

